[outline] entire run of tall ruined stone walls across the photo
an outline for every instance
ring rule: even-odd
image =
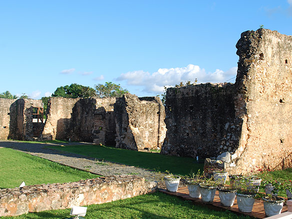
[[[241,34],[235,84],[169,88],[157,97],[51,98],[39,139],[88,141],[206,158],[230,173],[292,167],[292,37]],[[0,99],[0,138],[31,140],[41,102]],[[43,129],[42,129],[43,128]]]

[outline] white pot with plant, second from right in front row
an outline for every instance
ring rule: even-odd
[[[240,180],[240,188],[237,189],[236,198],[238,209],[241,212],[251,212],[255,200],[256,191],[253,186],[247,184],[248,179]]]

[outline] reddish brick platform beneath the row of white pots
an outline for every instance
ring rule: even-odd
[[[262,200],[255,200],[253,208],[252,208],[252,212],[244,213],[244,212],[239,211],[236,198],[235,198],[235,201],[234,201],[234,204],[232,207],[225,207],[225,206],[221,205],[218,190],[216,190],[214,201],[211,203],[203,202],[201,198],[190,197],[187,186],[179,187],[177,192],[170,192],[170,191],[167,191],[166,189],[162,189],[162,188],[159,188],[159,191],[164,192],[166,194],[175,195],[175,196],[178,196],[178,197],[186,199],[186,200],[192,200],[194,204],[206,206],[206,207],[209,207],[211,209],[215,209],[215,210],[224,210],[225,209],[225,210],[232,211],[233,213],[236,213],[236,214],[249,215],[249,216],[255,217],[255,218],[265,218]],[[287,200],[287,198],[285,198],[285,200]],[[285,211],[287,211],[287,206],[284,204],[282,212],[285,212]]]

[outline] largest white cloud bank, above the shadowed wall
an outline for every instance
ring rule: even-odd
[[[164,86],[175,86],[181,81],[199,83],[219,83],[225,82],[236,76],[237,67],[230,68],[228,71],[216,69],[213,73],[207,73],[197,65],[188,65],[182,68],[158,69],[157,72],[149,73],[144,71],[133,71],[121,74],[116,80],[126,81],[127,85],[142,87],[142,91],[152,94],[164,92]],[[230,80],[231,81],[231,80]],[[228,81],[228,82],[230,82]],[[235,79],[233,79],[235,81]],[[232,82],[232,81],[231,81]]]

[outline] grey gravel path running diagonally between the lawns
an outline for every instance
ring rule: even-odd
[[[150,181],[158,181],[158,187],[164,188],[163,176],[165,174],[151,170],[114,163],[110,161],[100,161],[98,159],[87,157],[79,154],[59,151],[46,146],[50,145],[82,145],[90,144],[85,142],[68,142],[68,143],[26,143],[12,140],[0,140],[0,147],[9,147],[34,156],[42,157],[54,162],[58,162],[77,169],[85,170],[91,173],[109,176],[109,175],[137,175],[145,177]],[[146,152],[145,152],[146,153]],[[180,183],[181,186],[184,183]]]

